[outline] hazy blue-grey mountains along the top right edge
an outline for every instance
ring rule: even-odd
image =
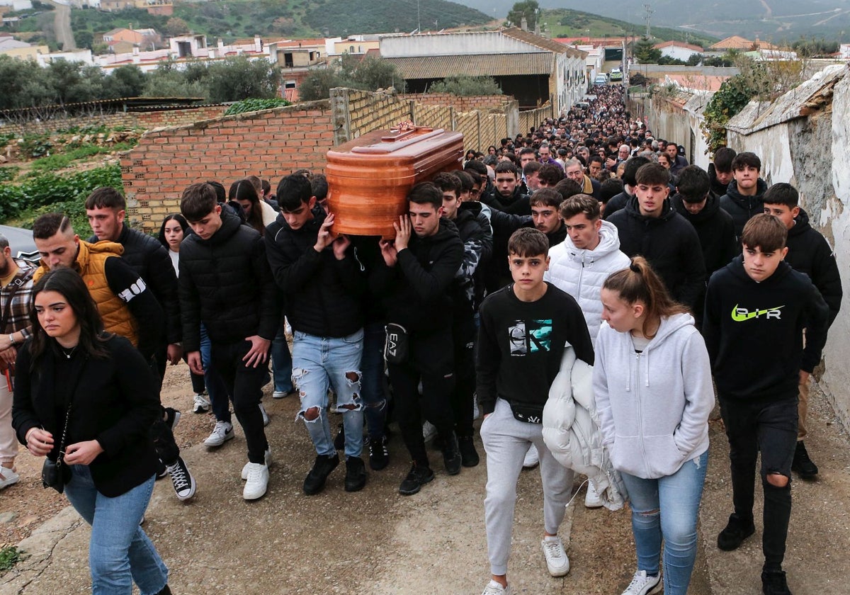
[[[487,14],[504,18],[515,0],[458,0]],[[538,0],[541,8],[587,10],[586,0]],[[793,41],[799,37],[847,40],[850,33],[850,5],[847,0],[714,0],[707,3],[686,0],[619,0],[594,4],[592,9],[607,17],[623,19],[643,26],[649,3],[654,35],[655,26],[683,27],[715,37],[740,35],[773,42]],[[551,25],[551,23],[550,23]]]

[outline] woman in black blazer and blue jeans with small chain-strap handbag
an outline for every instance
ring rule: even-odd
[[[12,424],[18,439],[32,455],[55,463],[54,477],[62,481],[50,487],[64,487],[92,526],[94,595],[130,595],[133,581],[142,595],[167,595],[168,570],[139,527],[156,472],[150,439],[160,411],[155,378],[127,339],[104,332],[75,271],[48,272],[32,300],[32,337],[16,362]]]

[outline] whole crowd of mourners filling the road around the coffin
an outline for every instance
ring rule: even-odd
[[[790,593],[791,472],[818,473],[808,375],[841,305],[835,258],[758,156],[723,148],[706,172],[632,118],[621,87],[594,93],[414,185],[392,240],[335,234],[326,178],[306,170],[274,192],[256,177],[191,184],[159,241],[126,224],[120,193],[95,190],[88,241],[62,213],[37,219],[37,269],[0,237],[0,487],[18,479],[17,438],[93,526],[93,592],[170,593],[139,523],[157,475],[195,495],[180,413],[159,403],[183,359],[192,411],[215,420],[207,448],[235,437],[231,405],[241,425],[246,500],[269,485],[266,384],[297,393],[309,496],[340,462],[346,491],[365,487],[367,462],[382,472],[389,422],[411,461],[400,495],[434,478],[424,428],[446,474],[474,467],[480,415],[484,595],[515,592],[516,485],[538,465],[551,575],[570,570],[558,528],[581,473],[587,507],[630,503],[638,561],[623,595],[675,595],[697,552],[713,379],[734,491],[717,547],[755,531],[761,451],[763,592]]]

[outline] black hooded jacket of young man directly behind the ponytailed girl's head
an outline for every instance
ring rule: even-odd
[[[690,309],[706,286],[706,265],[700,238],[682,215],[664,201],[660,217],[645,217],[638,198],[626,202],[626,208],[609,218],[620,235],[620,249],[628,257],[643,256],[664,281],[667,291]]]

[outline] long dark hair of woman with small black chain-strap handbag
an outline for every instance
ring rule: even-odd
[[[48,271],[32,288],[32,303],[30,321],[32,324],[32,343],[30,345],[31,370],[34,370],[48,348],[56,347],[56,339],[48,336],[38,321],[35,303],[36,296],[41,292],[57,292],[65,297],[68,305],[77,315],[80,325],[79,350],[93,358],[106,358],[109,352],[104,343],[112,335],[104,331],[103,320],[100,319],[98,307],[88,292],[85,281],[73,269],[59,267]]]

